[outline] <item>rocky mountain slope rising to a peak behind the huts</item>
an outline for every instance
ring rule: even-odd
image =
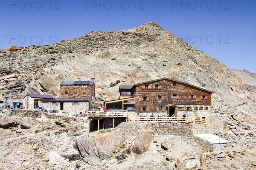
[[[13,52],[1,50],[0,74],[1,99],[10,89],[14,94],[26,90],[58,97],[61,81],[88,80],[94,75],[99,101],[116,99],[119,85],[169,77],[214,91],[215,109],[255,116],[256,91],[244,85],[243,76],[155,23],[90,32]]]

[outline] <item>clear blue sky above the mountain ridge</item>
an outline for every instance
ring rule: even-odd
[[[0,48],[154,22],[230,68],[256,72],[255,0],[0,0]]]

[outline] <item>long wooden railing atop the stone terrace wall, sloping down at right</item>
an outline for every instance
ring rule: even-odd
[[[172,122],[180,122],[180,123],[197,123],[210,125],[213,127],[217,127],[222,130],[229,130],[228,127],[220,125],[216,122],[212,122],[208,119],[202,118],[190,118],[190,117],[127,117],[127,122],[138,122],[138,123],[172,123]]]

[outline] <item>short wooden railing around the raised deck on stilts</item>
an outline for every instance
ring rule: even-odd
[[[127,117],[128,111],[87,111],[87,117]]]

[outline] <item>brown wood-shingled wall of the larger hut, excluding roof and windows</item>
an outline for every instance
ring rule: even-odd
[[[198,90],[188,85],[176,83],[176,87],[173,87],[173,83],[167,80],[162,80],[152,84],[148,84],[149,89],[145,89],[144,85],[136,87],[135,92],[135,111],[141,112],[142,107],[148,107],[148,112],[156,112],[158,106],[173,105],[211,105],[211,94],[205,91]],[[160,89],[155,89],[155,85],[158,85]],[[177,99],[173,99],[172,96],[177,95]],[[190,99],[190,95],[194,95],[195,99]],[[205,100],[202,96],[206,96]],[[143,101],[143,96],[147,96],[148,100]],[[162,96],[163,100],[159,102],[157,96]]]

